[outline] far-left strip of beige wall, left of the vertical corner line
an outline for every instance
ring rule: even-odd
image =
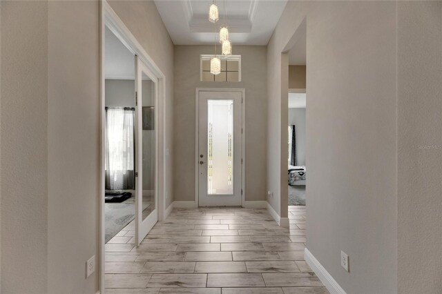
[[[2,1],[0,35],[0,292],[46,293],[48,3]]]

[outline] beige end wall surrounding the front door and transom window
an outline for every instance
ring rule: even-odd
[[[247,201],[265,200],[266,48],[233,47],[233,54],[242,58],[242,81],[201,82],[200,55],[213,50],[213,46],[175,46],[174,199],[195,200],[195,88],[245,88],[245,196]]]

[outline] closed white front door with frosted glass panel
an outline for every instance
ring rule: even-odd
[[[199,206],[241,206],[242,90],[198,91]]]

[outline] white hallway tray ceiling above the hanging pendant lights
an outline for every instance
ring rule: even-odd
[[[224,1],[216,1],[220,20],[208,20],[211,0],[155,0],[155,5],[175,45],[213,44],[215,30],[223,24]],[[225,1],[225,23],[233,45],[267,45],[287,0]]]

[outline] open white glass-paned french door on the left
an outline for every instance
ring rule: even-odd
[[[158,80],[135,56],[135,241],[158,221]]]

